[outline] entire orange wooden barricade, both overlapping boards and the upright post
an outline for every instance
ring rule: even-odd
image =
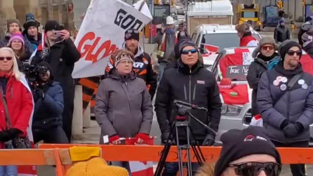
[[[100,147],[100,156],[109,161],[158,161],[163,150],[163,146],[40,144],[39,149],[0,150],[0,165],[56,166],[57,176],[65,176],[73,164],[68,149],[75,146]],[[201,151],[206,162],[214,163],[219,158],[221,147],[201,147]],[[278,151],[283,164],[313,164],[312,148],[278,148]],[[185,153],[183,159],[186,161]],[[176,146],[171,147],[166,161],[178,161]],[[192,161],[197,161],[193,153]]]

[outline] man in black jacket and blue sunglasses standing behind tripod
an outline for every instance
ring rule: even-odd
[[[171,126],[177,116],[177,108],[174,100],[198,105],[208,109],[191,110],[191,113],[201,122],[207,124],[214,131],[218,131],[221,118],[220,90],[214,75],[206,70],[199,62],[198,48],[191,42],[185,42],[180,46],[181,56],[178,66],[164,71],[156,93],[156,117],[161,130],[161,140],[166,141],[171,133]],[[215,135],[194,119],[190,119],[193,135],[190,137],[203,146],[212,146]],[[175,136],[175,135],[174,135]],[[185,132],[179,132],[179,144],[186,144]],[[193,171],[196,171],[193,164]],[[164,176],[176,176],[178,163],[166,163]]]

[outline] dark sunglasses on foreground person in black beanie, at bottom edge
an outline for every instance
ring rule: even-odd
[[[247,162],[230,164],[229,167],[236,167],[235,173],[238,176],[257,176],[261,171],[267,176],[279,176],[282,170],[282,166],[275,162]]]

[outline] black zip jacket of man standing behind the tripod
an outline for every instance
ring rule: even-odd
[[[169,132],[177,116],[174,100],[204,107],[204,110],[191,110],[191,114],[201,122],[218,131],[221,119],[222,103],[220,90],[212,72],[206,70],[200,61],[191,69],[181,60],[177,66],[164,71],[156,93],[156,117],[162,133]],[[190,119],[193,137],[203,140],[210,133],[194,119]],[[186,139],[185,132],[179,132]]]

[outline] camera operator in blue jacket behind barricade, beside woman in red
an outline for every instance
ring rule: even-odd
[[[64,109],[63,90],[60,83],[53,81],[47,62],[39,63],[38,85],[32,86],[35,102],[32,131],[34,143],[65,144],[67,136],[62,128]]]

